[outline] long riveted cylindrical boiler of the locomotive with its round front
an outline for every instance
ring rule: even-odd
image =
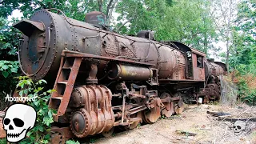
[[[16,27],[24,31],[26,23],[28,22],[19,22]],[[30,27],[42,27],[39,26],[42,24],[45,30],[31,29],[31,35],[26,34],[30,36],[24,37],[19,50],[22,70],[33,79],[50,80],[51,75],[57,74],[62,50],[109,59],[128,59],[132,63],[145,62],[158,68],[159,78],[171,78],[178,61],[184,63],[181,52],[174,50],[174,47],[146,38],[100,30],[89,23],[63,18],[48,10],[39,10],[30,18]],[[106,62],[100,61],[98,67],[102,68],[105,64]],[[183,73],[184,70],[181,70]],[[182,74],[180,75],[179,78],[182,78]]]

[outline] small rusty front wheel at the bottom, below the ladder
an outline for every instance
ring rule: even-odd
[[[66,136],[65,136],[65,133],[60,130],[58,127],[52,127],[51,130],[50,130],[50,143],[51,144],[56,144],[56,143],[59,143],[59,144],[65,144],[65,141],[66,141]]]

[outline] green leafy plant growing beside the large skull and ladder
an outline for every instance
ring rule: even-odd
[[[20,97],[26,96],[34,98],[33,102],[28,102],[30,106],[33,106],[37,111],[36,124],[32,130],[27,133],[29,138],[26,138],[21,143],[48,143],[50,139],[50,124],[53,121],[53,114],[57,112],[49,109],[47,102],[50,98],[50,93],[54,90],[43,90],[43,84],[46,84],[45,80],[39,80],[33,82],[32,79],[26,76],[18,77],[19,82],[17,88]]]

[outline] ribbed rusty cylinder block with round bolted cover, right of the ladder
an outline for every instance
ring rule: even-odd
[[[87,135],[109,131],[114,125],[111,91],[106,86],[78,86],[71,98],[77,98],[78,95],[84,97],[85,103],[83,108],[74,111],[70,117],[70,127],[74,135],[84,138]]]

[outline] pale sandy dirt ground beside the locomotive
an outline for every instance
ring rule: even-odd
[[[223,111],[233,114],[255,113],[255,109],[242,105],[234,108],[218,105],[186,106],[180,115],[160,118],[154,124],[138,126],[134,130],[114,133],[110,138],[91,138],[101,144],[152,144],[152,143],[256,143],[256,122],[246,122],[242,134],[234,134],[234,122],[218,120],[206,111]],[[185,134],[181,134],[185,131]],[[190,133],[196,134],[190,136]]]

